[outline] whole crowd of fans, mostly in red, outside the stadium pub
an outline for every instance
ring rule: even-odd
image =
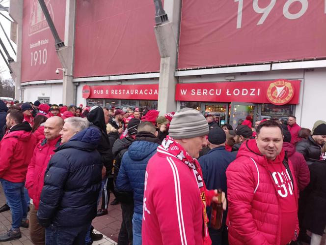
[[[118,245],[320,245],[326,122],[247,116],[233,128],[190,108],[159,115],[0,101],[0,212],[12,214],[0,242],[29,227],[36,245],[90,245],[110,203],[122,210]]]

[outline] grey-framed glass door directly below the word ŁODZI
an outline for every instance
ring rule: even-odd
[[[252,118],[252,126],[260,116],[261,106],[252,103],[231,102],[230,124],[233,129],[245,121],[247,116]]]

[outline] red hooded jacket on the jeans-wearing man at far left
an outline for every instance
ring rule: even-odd
[[[28,122],[10,128],[0,142],[0,178],[21,183],[26,179],[27,167],[33,155],[36,139]]]

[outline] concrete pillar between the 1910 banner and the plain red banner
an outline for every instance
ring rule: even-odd
[[[57,55],[63,70],[62,103],[70,105],[74,101],[74,43],[75,43],[76,0],[66,0],[66,19],[64,31],[65,47],[58,49]]]

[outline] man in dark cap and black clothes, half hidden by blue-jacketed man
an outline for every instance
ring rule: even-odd
[[[121,166],[121,159],[125,152],[128,151],[130,145],[135,141],[137,128],[141,121],[137,118],[133,118],[129,121],[127,129],[128,134],[125,138],[115,141],[112,153],[115,157],[114,163],[114,183],[118,177],[119,168]],[[133,242],[133,214],[134,214],[134,193],[123,192],[115,190],[115,195],[121,204],[122,222],[118,236],[119,245],[128,245]]]

